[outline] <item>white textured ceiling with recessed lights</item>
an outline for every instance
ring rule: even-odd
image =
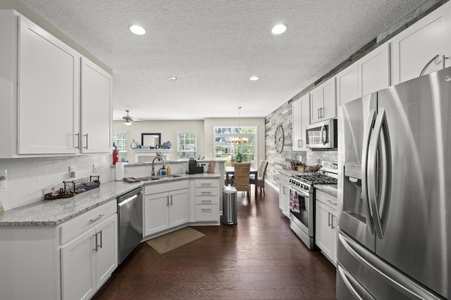
[[[266,117],[424,2],[20,1],[113,69],[115,119]]]

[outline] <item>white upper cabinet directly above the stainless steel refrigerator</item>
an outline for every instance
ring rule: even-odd
[[[392,84],[451,65],[450,21],[448,2],[393,38]]]

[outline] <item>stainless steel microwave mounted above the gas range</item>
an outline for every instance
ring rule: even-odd
[[[307,126],[307,148],[331,149],[337,147],[337,119],[310,124]]]

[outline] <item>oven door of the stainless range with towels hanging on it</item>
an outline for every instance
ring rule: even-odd
[[[290,218],[309,237],[314,236],[313,197],[290,185]]]

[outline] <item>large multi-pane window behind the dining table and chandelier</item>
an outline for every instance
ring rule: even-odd
[[[247,143],[233,143],[232,138],[247,138]],[[240,152],[242,162],[252,162],[256,157],[255,141],[257,141],[257,126],[247,127],[215,127],[214,149],[216,159],[232,159]]]

